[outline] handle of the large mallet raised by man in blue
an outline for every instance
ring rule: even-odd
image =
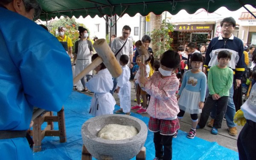
[[[84,70],[82,70],[74,79],[73,84],[76,84],[80,79],[82,79],[87,73],[89,73],[91,70],[99,66],[103,62],[101,57],[97,57],[95,60],[93,60],[92,63],[90,63]]]

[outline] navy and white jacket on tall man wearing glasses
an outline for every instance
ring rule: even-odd
[[[211,66],[217,65],[218,52],[221,50],[227,50],[232,54],[228,67],[234,71],[235,79],[241,79],[245,66],[244,45],[241,39],[234,37],[234,35],[226,42],[223,40],[222,35],[212,39],[205,54],[204,67],[208,67],[207,71],[209,71]]]

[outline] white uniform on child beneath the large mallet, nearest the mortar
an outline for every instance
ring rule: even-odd
[[[112,76],[108,69],[103,69],[93,78],[87,81],[86,87],[94,92],[90,106],[90,114],[100,116],[105,114],[113,114],[116,101],[110,90],[113,88]]]

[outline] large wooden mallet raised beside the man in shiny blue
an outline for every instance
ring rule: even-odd
[[[97,57],[91,64],[89,64],[84,70],[81,71],[74,79],[73,84],[76,84],[80,79],[82,79],[87,73],[96,68],[102,62],[105,64],[111,75],[116,78],[122,73],[122,68],[120,67],[115,55],[113,54],[111,48],[105,39],[98,39],[94,42],[93,48],[98,53]]]

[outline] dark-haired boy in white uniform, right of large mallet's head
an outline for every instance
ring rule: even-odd
[[[120,109],[116,113],[131,114],[131,82],[129,81],[131,73],[127,66],[128,55],[121,55],[119,63],[122,65],[122,74],[118,78],[116,93],[120,99]]]

